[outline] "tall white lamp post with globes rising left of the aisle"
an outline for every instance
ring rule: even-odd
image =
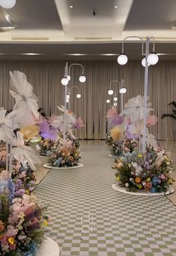
[[[70,64],[70,66],[68,66],[68,63],[66,62],[66,66],[64,69],[64,78],[61,79],[61,84],[64,85],[64,128],[63,128],[63,137],[64,137],[64,142],[63,144],[65,145],[65,141],[66,141],[66,109],[67,109],[67,84],[70,81],[70,68],[72,66],[81,66],[82,68],[82,74],[79,76],[79,81],[81,83],[85,83],[86,78],[84,75],[84,67],[79,64],[79,63],[72,63]]]

